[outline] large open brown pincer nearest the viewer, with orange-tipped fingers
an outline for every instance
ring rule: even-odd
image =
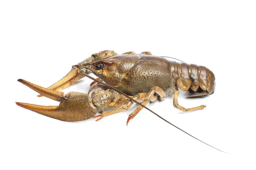
[[[60,102],[59,106],[41,106],[16,102],[20,107],[67,122],[90,119],[97,113],[97,109],[93,105],[88,94],[69,92],[64,95],[63,92],[43,88],[23,79],[18,79],[18,82],[23,83],[43,96]]]

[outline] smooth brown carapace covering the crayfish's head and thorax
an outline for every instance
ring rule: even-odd
[[[90,67],[94,68],[97,62],[104,62],[104,68],[97,76],[127,95],[148,93],[154,86],[166,92],[175,88],[169,61],[163,57],[124,54],[95,59]]]

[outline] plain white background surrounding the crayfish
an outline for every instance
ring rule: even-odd
[[[55,1],[0,3],[0,169],[255,169],[256,4],[249,0]],[[15,105],[58,105],[17,82],[43,87],[102,50],[176,57],[204,65],[215,93],[172,95],[148,107],[220,150],[203,144],[143,109],[95,122],[69,123]],[[64,90],[87,92],[84,78]]]

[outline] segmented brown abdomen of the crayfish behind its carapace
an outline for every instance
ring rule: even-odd
[[[204,66],[170,61],[170,70],[177,87],[182,91],[191,88],[196,92],[199,87],[207,92],[214,90],[214,74]]]

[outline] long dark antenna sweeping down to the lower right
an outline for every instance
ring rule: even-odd
[[[148,111],[154,113],[154,114],[155,114],[156,116],[158,116],[160,119],[163,119],[165,122],[169,123],[170,125],[172,125],[172,126],[176,127],[177,129],[183,131],[184,133],[188,134],[189,136],[191,136],[191,137],[197,139],[196,137],[190,135],[189,133],[185,132],[184,130],[180,129],[179,127],[173,125],[171,122],[167,121],[167,120],[164,119],[163,117],[159,116],[159,115],[158,115],[157,113],[155,113],[154,111],[151,111],[149,108],[147,108],[146,106],[144,106],[144,105],[142,105],[141,103],[137,102],[136,100],[134,100],[133,98],[131,98],[131,97],[128,96],[127,94],[123,93],[122,91],[119,91],[118,89],[116,89],[116,88],[114,88],[114,87],[112,87],[112,86],[110,86],[110,85],[108,85],[108,84],[106,84],[106,83],[104,83],[104,82],[101,82],[101,81],[99,81],[98,79],[95,79],[95,78],[89,76],[88,74],[82,72],[82,70],[81,70],[81,73],[84,74],[84,76],[89,77],[90,79],[92,79],[92,80],[94,80],[94,81],[96,81],[96,82],[99,82],[100,84],[105,85],[105,86],[107,86],[108,88],[111,88],[111,89],[113,89],[113,90],[119,92],[120,94],[124,95],[125,97],[127,97],[127,98],[130,99],[131,101],[137,103],[138,105],[142,106],[143,108],[146,108]],[[205,143],[205,142],[203,142],[203,141],[201,141],[201,140],[199,140],[199,139],[197,139],[197,140],[200,141],[200,142],[202,142],[202,143],[204,143],[204,144],[207,144],[207,143]],[[211,146],[211,145],[209,145],[209,144],[207,144],[207,145],[210,146],[210,147],[213,147],[213,146]],[[216,147],[213,147],[213,148],[216,149],[216,150],[219,150],[219,149],[217,149]],[[224,151],[222,151],[222,150],[219,150],[219,151],[224,152]],[[224,153],[226,153],[226,152],[224,152]]]

